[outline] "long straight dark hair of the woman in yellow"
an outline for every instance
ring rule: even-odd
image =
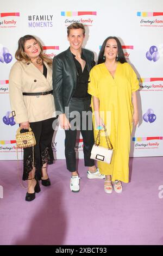
[[[102,44],[101,50],[100,50],[99,55],[98,55],[98,62],[97,62],[97,64],[105,62],[105,59],[103,58],[104,57],[104,51],[105,51],[106,42],[109,39],[115,39],[116,42],[117,42],[117,46],[118,46],[118,58],[117,58],[117,61],[121,62],[121,63],[127,62],[126,58],[124,57],[124,53],[123,53],[123,50],[122,50],[122,45],[121,45],[120,40],[118,38],[116,38],[116,36],[109,36],[108,38],[105,39],[105,41]]]

